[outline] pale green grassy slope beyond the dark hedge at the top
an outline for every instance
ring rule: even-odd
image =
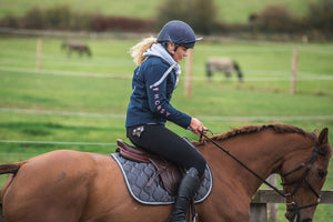
[[[316,2],[317,0],[215,0],[215,8],[218,10],[218,20],[231,23],[246,23],[251,13],[255,13],[270,4],[286,6],[292,12],[297,16],[304,16],[307,12],[307,4]],[[0,18],[7,14],[22,16],[27,10],[38,6],[40,8],[50,8],[54,6],[69,6],[74,11],[89,13],[103,13],[110,16],[127,16],[135,18],[154,19],[159,13],[159,7],[164,1],[157,0],[95,0],[95,1],[80,1],[80,0],[0,0]],[[176,6],[172,6],[176,8]],[[134,16],[133,16],[134,14]]]

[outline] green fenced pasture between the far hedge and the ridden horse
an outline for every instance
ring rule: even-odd
[[[140,39],[82,39],[92,57],[69,57],[62,39],[44,38],[41,70],[36,38],[0,38],[0,163],[56,149],[113,152],[125,140],[124,118],[135,68],[129,49]],[[296,94],[290,93],[293,49],[299,50]],[[184,97],[185,62],[172,104],[198,117],[214,133],[246,124],[282,122],[307,131],[330,129],[333,141],[333,44],[208,42],[195,46],[192,97]],[[231,57],[244,72],[238,82],[205,78],[208,57]],[[168,124],[191,140],[198,138]],[[333,161],[324,189],[333,189]],[[1,176],[1,184],[4,176]],[[280,221],[284,205],[280,205]],[[331,210],[330,210],[331,209]],[[314,221],[332,219],[320,205]]]

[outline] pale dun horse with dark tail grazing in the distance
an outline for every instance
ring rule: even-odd
[[[231,73],[236,71],[239,81],[243,80],[240,65],[231,58],[209,58],[205,62],[205,70],[209,79],[211,79],[213,72],[224,72],[225,77],[230,78]]]

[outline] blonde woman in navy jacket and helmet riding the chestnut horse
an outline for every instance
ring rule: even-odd
[[[138,68],[133,74],[133,91],[127,112],[127,135],[137,147],[186,169],[170,222],[186,222],[189,204],[206,164],[190,143],[165,128],[165,122],[172,121],[196,134],[206,132],[196,118],[170,104],[181,74],[179,62],[188,56],[188,49],[201,39],[195,38],[189,24],[174,20],[162,28],[157,39],[144,39],[131,50]]]

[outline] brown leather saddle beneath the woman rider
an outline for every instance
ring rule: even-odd
[[[127,144],[124,141],[117,140],[118,148],[115,152],[119,152],[124,159],[139,162],[139,163],[152,163],[157,169],[157,172],[149,180],[147,186],[150,186],[153,181],[160,176],[164,185],[164,189],[171,194],[175,195],[178,191],[179,183],[183,178],[185,170],[181,167],[161,158],[159,155],[148,153],[135,147]]]

